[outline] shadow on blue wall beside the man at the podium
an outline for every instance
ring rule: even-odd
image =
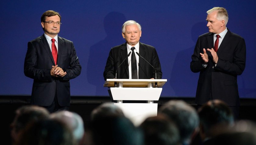
[[[92,45],[90,48],[87,64],[87,79],[90,84],[96,86],[96,96],[105,96],[107,92],[103,87],[105,82],[103,77],[104,68],[110,49],[125,42],[122,37],[122,25],[125,21],[126,17],[122,13],[108,13],[104,18],[106,38]]]

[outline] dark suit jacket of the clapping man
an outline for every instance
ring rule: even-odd
[[[196,103],[201,105],[211,99],[220,99],[229,106],[239,106],[237,75],[242,74],[245,68],[244,38],[228,30],[217,51],[217,65],[215,66],[211,53],[206,51],[209,62],[204,68],[200,53],[203,53],[203,48],[214,47],[213,35],[209,32],[199,36],[192,55],[190,69],[193,72],[200,72]]]

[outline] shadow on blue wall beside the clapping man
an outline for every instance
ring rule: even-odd
[[[175,96],[179,97],[195,97],[197,89],[197,81],[199,73],[193,73],[190,70],[191,56],[194,53],[194,48],[199,35],[206,27],[206,22],[198,22],[191,29],[191,38],[194,45],[185,50],[179,51],[176,55],[172,73],[170,76],[170,85],[175,91]],[[189,95],[188,95],[189,94]]]

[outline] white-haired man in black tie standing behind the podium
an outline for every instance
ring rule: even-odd
[[[155,48],[139,42],[141,37],[140,24],[133,20],[126,21],[122,26],[122,35],[126,43],[111,48],[103,73],[104,79],[161,79],[161,65]],[[127,58],[130,52],[131,55]],[[155,69],[139,57],[136,52]],[[123,64],[118,68],[122,62]]]

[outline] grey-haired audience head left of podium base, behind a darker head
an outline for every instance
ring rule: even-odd
[[[124,114],[123,111],[114,103],[103,103],[92,111],[91,120],[99,120],[108,116],[124,117]]]

